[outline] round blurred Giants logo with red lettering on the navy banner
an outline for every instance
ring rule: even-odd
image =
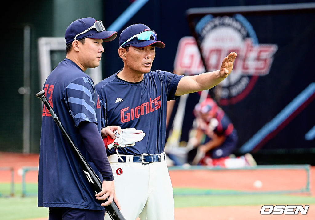
[[[220,104],[234,104],[245,98],[259,76],[269,73],[276,44],[259,44],[249,21],[242,15],[213,17],[206,15],[196,25],[208,71],[220,69],[222,60],[230,52],[238,56],[232,73],[220,83]],[[175,69],[196,75],[205,72],[195,38],[180,39]]]

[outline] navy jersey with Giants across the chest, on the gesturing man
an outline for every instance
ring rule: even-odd
[[[118,73],[118,72],[117,72]],[[167,101],[175,100],[177,85],[183,76],[171,72],[150,71],[143,80],[130,83],[117,73],[95,85],[101,104],[101,124],[143,130],[146,136],[132,147],[118,148],[120,154],[163,153],[166,138]],[[115,150],[107,150],[107,155]]]

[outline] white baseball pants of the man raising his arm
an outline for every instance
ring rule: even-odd
[[[174,220],[173,188],[164,154],[161,162],[143,165],[132,162],[133,156],[126,156],[124,163],[118,163],[117,155],[110,155],[115,191],[121,212],[126,220]],[[108,214],[105,220],[110,220]]]

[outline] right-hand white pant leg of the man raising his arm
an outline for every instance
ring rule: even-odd
[[[174,197],[166,161],[145,165],[150,167],[148,200],[141,220],[174,220]]]

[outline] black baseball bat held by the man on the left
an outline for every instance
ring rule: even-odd
[[[70,138],[70,136],[66,132],[65,128],[62,126],[60,120],[58,119],[57,115],[54,113],[53,108],[50,106],[50,104],[49,104],[49,102],[45,96],[45,91],[42,90],[42,91],[38,92],[36,94],[36,96],[43,101],[44,105],[47,107],[52,118],[54,119],[54,121],[56,122],[58,127],[60,128],[61,133],[65,136],[65,138],[69,142],[69,144],[73,150],[73,153],[75,154],[81,167],[83,168],[83,172],[86,174],[88,181],[92,184],[92,187],[95,190],[95,193],[102,191],[102,182],[100,181],[100,178],[93,171],[93,169],[88,164],[86,159],[84,159],[83,155],[81,154],[81,152],[79,151],[77,146],[73,143],[72,139]],[[105,201],[107,201],[107,199]],[[123,214],[120,212],[120,210],[118,209],[118,207],[114,201],[110,205],[105,206],[105,210],[107,211],[108,215],[111,217],[112,220],[125,220],[125,218],[123,217]]]

